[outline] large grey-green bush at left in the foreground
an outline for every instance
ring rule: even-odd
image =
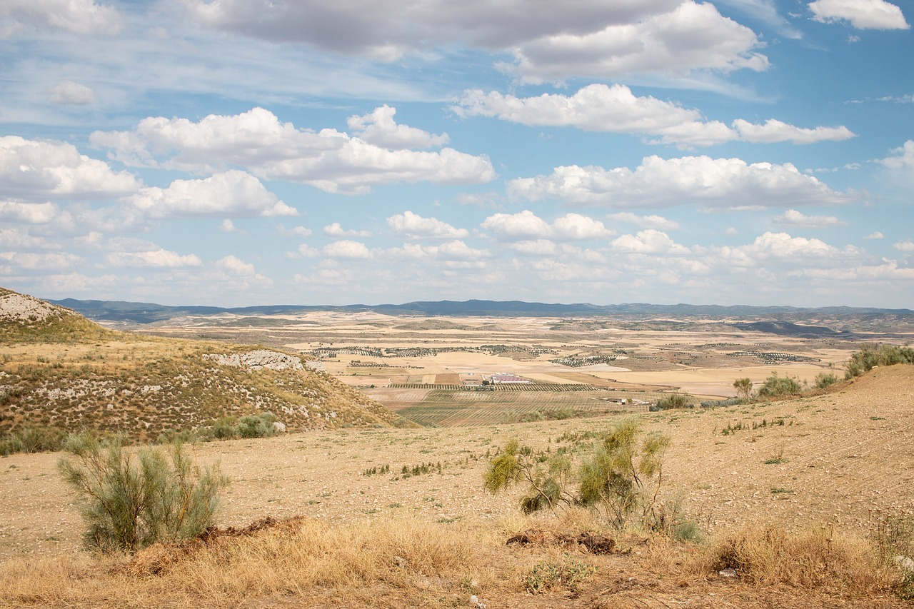
[[[218,465],[191,463],[181,444],[166,454],[133,454],[122,437],[101,443],[88,434],[70,435],[58,471],[76,491],[89,528],[83,540],[102,551],[144,548],[157,541],[197,537],[213,523],[228,479]]]

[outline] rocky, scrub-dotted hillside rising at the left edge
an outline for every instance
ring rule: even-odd
[[[0,432],[97,429],[154,440],[270,411],[291,431],[409,425],[288,352],[112,332],[0,293]]]

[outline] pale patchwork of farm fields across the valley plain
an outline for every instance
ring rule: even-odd
[[[671,391],[690,393],[696,401],[720,400],[734,395],[735,379],[759,384],[772,372],[812,384],[824,371],[841,376],[859,344],[879,339],[878,330],[887,329],[811,338],[747,330],[736,319],[683,323],[315,312],[257,320],[256,326],[245,326],[245,318],[237,315],[186,317],[139,329],[297,349],[392,411],[438,426],[517,421],[556,409],[604,412],[611,401],[622,399],[630,402],[627,410],[638,411],[643,409],[632,408],[632,400],[656,401]],[[529,379],[536,393],[473,397],[452,390],[495,373]],[[569,384],[592,391],[559,387]],[[430,395],[430,390],[437,392]]]

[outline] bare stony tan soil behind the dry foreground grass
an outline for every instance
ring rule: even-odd
[[[759,521],[789,530],[866,532],[873,510],[914,508],[912,406],[914,367],[896,366],[799,401],[657,412],[642,420],[646,430],[673,440],[665,493],[678,497],[711,532]],[[612,421],[340,430],[203,443],[194,451],[201,463],[218,461],[232,480],[222,525],[265,516],[351,522],[405,513],[433,522],[484,523],[517,513],[517,493],[483,490],[496,447],[517,437],[535,448],[558,448],[563,434]],[[0,561],[79,550],[82,524],[56,473],[58,458],[0,459]],[[401,474],[404,466],[411,472],[423,464],[430,473]],[[389,474],[367,475],[383,465]]]

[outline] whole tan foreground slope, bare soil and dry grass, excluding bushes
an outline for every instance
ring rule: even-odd
[[[607,555],[546,541],[505,545],[531,528],[577,534],[599,524],[576,512],[523,518],[518,490],[482,490],[486,455],[510,438],[573,449],[606,419],[201,444],[197,458],[218,458],[233,480],[221,526],[303,518],[215,540],[198,554],[159,549],[130,564],[70,558],[80,519],[54,473],[57,457],[18,454],[0,468],[0,590],[25,606],[443,608],[476,606],[471,594],[492,607],[910,606],[891,594],[888,567],[864,564],[872,554],[860,540],[880,518],[912,507],[912,391],[914,367],[898,365],[798,400],[644,415],[645,430],[673,440],[664,499],[678,499],[714,539],[676,545],[610,532],[619,548]],[[400,474],[429,462],[441,470]],[[387,474],[366,473],[381,465]],[[719,575],[714,557],[726,556],[729,535],[757,544],[761,566]],[[787,571],[764,570],[775,560],[765,540],[788,544],[776,557]],[[10,560],[22,556],[32,558]],[[529,592],[563,568],[579,580]]]

